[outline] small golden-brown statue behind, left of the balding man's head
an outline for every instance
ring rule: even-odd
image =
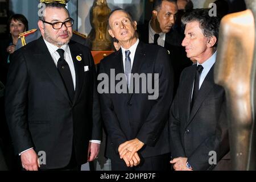
[[[112,43],[106,36],[106,32],[111,10],[106,0],[96,0],[92,9],[92,24],[95,30],[95,38],[92,40],[92,51],[109,51],[112,49]]]

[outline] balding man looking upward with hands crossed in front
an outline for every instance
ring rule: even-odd
[[[125,74],[126,90],[133,81],[130,73],[158,73],[159,97],[148,100],[148,92],[100,95],[108,133],[106,156],[111,159],[113,170],[164,170],[168,168],[165,160],[170,158],[167,121],[173,92],[172,69],[166,49],[140,42],[136,26],[126,11],[112,12],[109,34],[119,41],[121,49],[101,61],[100,73],[110,77],[110,69],[114,69],[115,75]],[[136,86],[142,88],[142,83]]]

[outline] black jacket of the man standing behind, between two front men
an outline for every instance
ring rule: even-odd
[[[148,44],[148,23],[138,25],[139,40]],[[187,58],[185,48],[181,46],[184,35],[179,34],[173,28],[166,34],[164,48],[170,52],[170,60],[174,69],[174,96],[179,85],[180,73],[184,68],[192,65],[192,61]]]

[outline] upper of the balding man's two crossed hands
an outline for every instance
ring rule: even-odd
[[[130,155],[128,156],[128,160],[131,160],[133,158],[133,155],[135,154],[135,152],[139,151],[143,146],[144,146],[144,143],[141,142],[137,138],[135,138],[133,140],[129,140],[125,143],[122,143],[118,147],[118,152],[119,152],[119,155],[120,155],[120,159],[122,159],[123,156],[127,152],[131,152]]]

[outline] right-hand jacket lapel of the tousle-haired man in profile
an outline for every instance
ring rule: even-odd
[[[193,117],[199,110],[202,102],[205,100],[205,98],[207,98],[210,90],[212,90],[212,88],[214,86],[213,71],[214,71],[214,65],[212,66],[212,68],[210,68],[210,71],[208,72],[207,76],[204,79],[203,84],[201,85],[198,96],[197,96],[195,103],[192,107],[187,126],[189,125],[189,123],[191,123]]]

